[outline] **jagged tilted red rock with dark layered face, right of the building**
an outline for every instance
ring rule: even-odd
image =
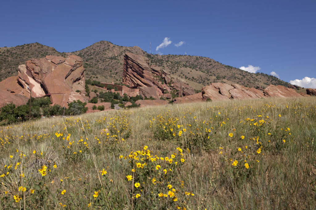
[[[123,83],[140,89],[140,94],[159,99],[164,93],[175,90],[179,95],[194,94],[188,84],[172,79],[155,65],[149,66],[149,60],[140,55],[126,53],[123,66]]]

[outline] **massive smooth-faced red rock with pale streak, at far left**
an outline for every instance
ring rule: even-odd
[[[53,104],[65,107],[74,100],[88,101],[84,96],[86,92],[82,59],[76,55],[28,60],[25,65],[19,65],[17,77],[9,77],[0,82],[0,89],[4,87],[11,94],[26,98],[30,94],[32,97],[49,95]],[[19,104],[17,101],[12,102]]]

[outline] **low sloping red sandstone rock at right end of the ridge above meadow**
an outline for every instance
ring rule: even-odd
[[[302,97],[301,94],[297,93],[294,89],[286,88],[281,85],[270,85],[264,89],[264,94],[270,97],[278,97],[278,98],[285,98],[285,97]]]

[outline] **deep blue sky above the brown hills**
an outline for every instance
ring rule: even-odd
[[[316,88],[316,1],[3,1],[0,11],[0,47],[72,52],[106,40],[149,52],[151,41],[154,54],[186,52]]]

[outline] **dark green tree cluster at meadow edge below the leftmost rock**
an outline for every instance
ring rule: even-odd
[[[67,109],[51,104],[49,97],[31,98],[26,105],[17,107],[13,103],[6,104],[0,109],[0,124],[23,122],[41,116],[79,115],[88,110],[86,103],[79,100],[70,103]]]

